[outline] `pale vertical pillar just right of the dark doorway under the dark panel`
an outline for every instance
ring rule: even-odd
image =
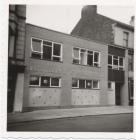
[[[125,60],[124,60],[124,84],[120,90],[121,105],[129,105],[129,95],[128,95],[128,50],[125,50]]]

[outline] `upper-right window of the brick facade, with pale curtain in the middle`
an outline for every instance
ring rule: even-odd
[[[87,49],[73,48],[73,63],[99,67],[100,53]]]

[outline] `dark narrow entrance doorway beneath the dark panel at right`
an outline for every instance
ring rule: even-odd
[[[120,88],[121,88],[121,84],[120,83],[116,83],[115,84],[116,105],[121,105]]]

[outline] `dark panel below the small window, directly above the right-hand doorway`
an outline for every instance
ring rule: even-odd
[[[124,82],[124,71],[108,69],[108,80],[115,82]]]

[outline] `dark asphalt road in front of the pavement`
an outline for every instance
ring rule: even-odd
[[[133,114],[84,116],[12,123],[8,131],[133,132]]]

